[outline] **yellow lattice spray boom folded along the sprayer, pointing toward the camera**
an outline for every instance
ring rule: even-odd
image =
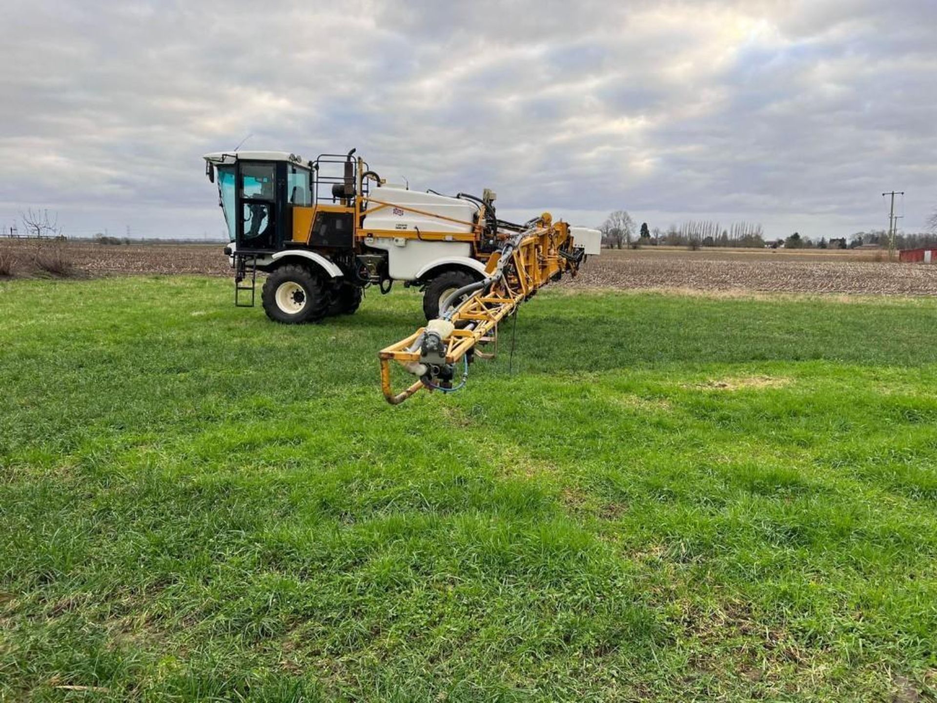
[[[453,292],[440,305],[439,318],[380,351],[380,385],[388,402],[402,403],[422,388],[443,393],[462,388],[476,347],[496,338],[498,322],[551,280],[567,272],[574,276],[585,260],[585,249],[573,242],[570,226],[553,222],[549,213],[521,232],[502,232],[501,242],[482,280]],[[394,393],[392,361],[419,380]],[[460,369],[461,379],[454,385]]]

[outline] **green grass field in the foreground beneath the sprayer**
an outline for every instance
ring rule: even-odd
[[[0,699],[935,695],[937,301],[546,291],[394,408],[419,314],[0,283]]]

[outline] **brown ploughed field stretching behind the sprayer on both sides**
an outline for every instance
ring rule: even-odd
[[[49,246],[45,244],[43,246]],[[36,243],[0,239],[21,260],[22,273]],[[80,272],[229,276],[223,245],[109,246],[69,241],[64,252]],[[591,257],[573,288],[680,289],[714,292],[829,292],[937,295],[937,265],[873,261],[887,252],[686,249],[604,250]]]

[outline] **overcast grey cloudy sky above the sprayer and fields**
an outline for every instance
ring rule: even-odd
[[[937,207],[935,0],[3,0],[0,226],[221,236],[201,155],[357,147],[498,214],[769,235]]]

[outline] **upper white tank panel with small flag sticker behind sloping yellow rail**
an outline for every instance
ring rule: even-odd
[[[478,205],[474,202],[390,186],[372,190],[368,201],[364,215],[365,230],[471,232],[473,218],[478,213]],[[378,209],[382,202],[389,203],[389,206]],[[413,210],[428,214],[422,215]],[[372,211],[373,214],[370,214]],[[440,219],[434,215],[450,219]]]

